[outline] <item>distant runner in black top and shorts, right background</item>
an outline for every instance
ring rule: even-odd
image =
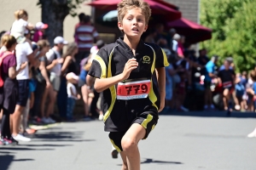
[[[230,94],[234,90],[234,81],[236,74],[230,69],[230,62],[228,60],[224,61],[224,70],[218,72],[218,82],[222,83],[223,87],[223,102],[224,110],[228,111]]]

